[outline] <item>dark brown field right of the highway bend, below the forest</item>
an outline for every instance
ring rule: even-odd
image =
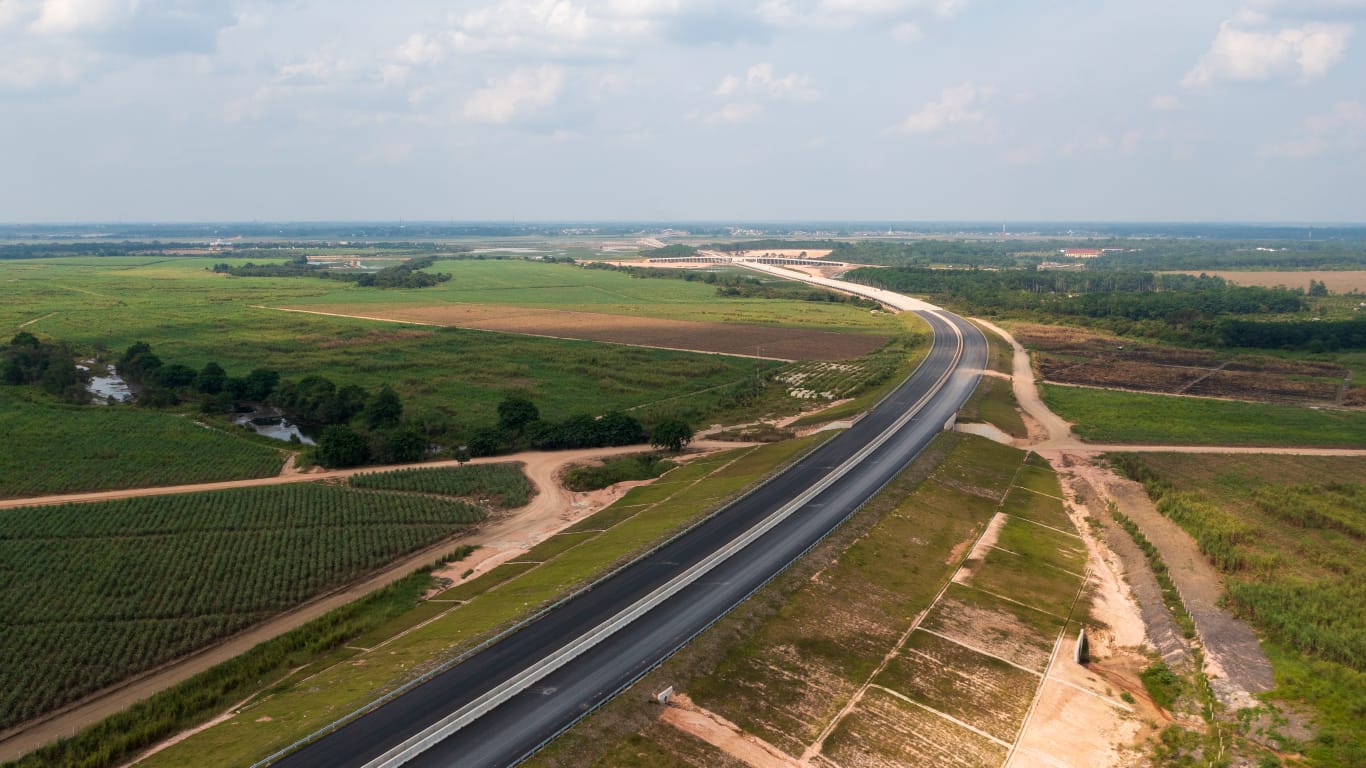
[[[1063,325],[1016,325],[1046,381],[1266,403],[1366,404],[1366,387],[1335,362],[1228,355],[1135,343]]]

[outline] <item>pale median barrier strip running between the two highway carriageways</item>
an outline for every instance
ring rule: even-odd
[[[936,307],[937,309],[937,307]],[[374,760],[366,763],[363,768],[395,768],[403,765],[408,760],[413,760],[418,754],[422,754],[428,749],[436,746],[437,743],[445,741],[451,734],[459,731],[460,728],[469,726],[474,720],[478,720],[484,715],[496,709],[501,704],[511,700],[514,696],[522,693],[523,690],[531,687],[538,681],[544,679],[549,674],[555,672],[560,667],[568,664],[578,656],[587,652],[594,645],[602,642],[616,631],[628,626],[635,619],[650,612],[661,603],[679,593],[697,579],[706,575],[709,571],[716,568],[719,564],[729,559],[732,555],[751,544],[754,540],[759,538],[775,526],[791,517],[796,510],[802,508],[807,502],[814,499],[822,491],[833,485],[837,480],[848,474],[858,463],[869,456],[873,451],[882,447],[896,432],[899,432],[906,424],[915,417],[917,413],[925,403],[933,399],[938,391],[948,381],[948,377],[953,374],[953,369],[958,366],[959,359],[963,357],[963,332],[958,329],[953,323],[945,323],[958,339],[958,347],[953,350],[953,359],[945,368],[944,373],[934,383],[930,391],[917,400],[917,403],[902,414],[891,426],[884,429],[877,437],[869,441],[866,445],[859,448],[856,454],[844,461],[840,466],[832,469],[825,477],[818,482],[807,488],[800,496],[788,502],[780,507],[772,515],[764,518],[762,522],[750,527],[735,540],[732,540],[725,547],[721,547],[712,555],[709,555],[702,562],[697,563],[691,568],[683,571],[682,574],[673,577],[667,584],[657,588],[654,592],[646,594],[645,597],[637,600],[628,608],[616,614],[611,619],[602,622],[601,625],[593,627],[591,630],[583,633],[572,642],[560,646],[556,652],[550,653],[545,659],[541,659],[535,664],[527,667],[526,670],[518,672],[512,678],[504,681],[501,685],[490,690],[489,693],[479,697],[477,701],[466,704],[460,709],[456,709],[451,715],[443,717],[437,723],[433,723],[428,728],[422,730],[417,735],[410,737],[403,743],[389,749],[384,754],[376,757]]]

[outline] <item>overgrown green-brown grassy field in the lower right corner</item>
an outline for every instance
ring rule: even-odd
[[[1229,605],[1265,633],[1272,701],[1317,735],[1251,734],[1310,764],[1366,764],[1366,459],[1123,455],[1158,508],[1227,575]],[[1340,480],[1343,478],[1343,480]]]

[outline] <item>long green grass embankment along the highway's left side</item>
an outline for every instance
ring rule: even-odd
[[[459,655],[482,638],[556,600],[615,564],[695,521],[775,467],[792,461],[826,436],[728,451],[682,466],[661,482],[632,489],[616,504],[533,548],[516,563],[500,566],[456,585],[410,611],[358,633],[337,631],[333,650],[292,660],[303,666],[269,696],[255,698],[240,715],[165,749],[141,765],[249,765],[316,728],[374,700],[385,690]],[[429,581],[425,584],[430,584]],[[369,649],[369,650],[362,650]],[[262,681],[243,682],[231,696],[191,681],[178,686],[178,701],[195,712],[153,737],[164,738],[187,723],[221,712],[224,702],[262,690]],[[171,693],[171,691],[168,691]],[[208,701],[208,705],[202,702]],[[197,708],[197,709],[195,709]],[[149,727],[156,727],[152,724]],[[111,734],[108,728],[102,732]],[[149,743],[143,741],[143,743]],[[92,767],[115,765],[127,753],[108,741],[90,741],[81,752]],[[53,753],[23,765],[70,765]]]

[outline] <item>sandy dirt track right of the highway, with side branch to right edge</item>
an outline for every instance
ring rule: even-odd
[[[1001,328],[989,323],[982,323],[982,325],[1008,340],[1015,348],[1012,384],[1015,398],[1026,413],[1024,421],[1030,430],[1029,447],[1048,459],[1059,476],[1072,473],[1085,480],[1086,485],[1096,493],[1096,507],[1091,510],[1094,517],[1108,519],[1109,515],[1104,507],[1108,502],[1115,502],[1119,510],[1138,525],[1143,536],[1157,548],[1162,562],[1167,563],[1172,582],[1182,594],[1182,601],[1186,604],[1187,612],[1190,612],[1195,622],[1197,633],[1205,646],[1205,674],[1210,678],[1210,685],[1220,702],[1231,709],[1254,707],[1257,701],[1251,694],[1270,690],[1274,686],[1274,676],[1270,661],[1266,659],[1266,653],[1262,650],[1257,634],[1251,627],[1218,607],[1220,594],[1223,593],[1221,575],[1201,555],[1195,540],[1184,529],[1157,511],[1141,484],[1119,477],[1108,466],[1098,465],[1094,459],[1106,451],[1296,455],[1366,455],[1366,451],[1082,444],[1071,433],[1070,425],[1053,414],[1038,396],[1038,387],[1034,383],[1029,355],[1024,354],[1023,347]],[[1127,564],[1131,573],[1146,570],[1135,567],[1132,562]],[[1157,616],[1156,607],[1150,601],[1152,597],[1147,596],[1145,603],[1149,603],[1149,605],[1145,607],[1145,618],[1154,619],[1149,625],[1149,637],[1161,649],[1164,656],[1169,655],[1175,657],[1179,652],[1176,650],[1176,638],[1172,637],[1173,627],[1169,623],[1169,618],[1164,620]]]

